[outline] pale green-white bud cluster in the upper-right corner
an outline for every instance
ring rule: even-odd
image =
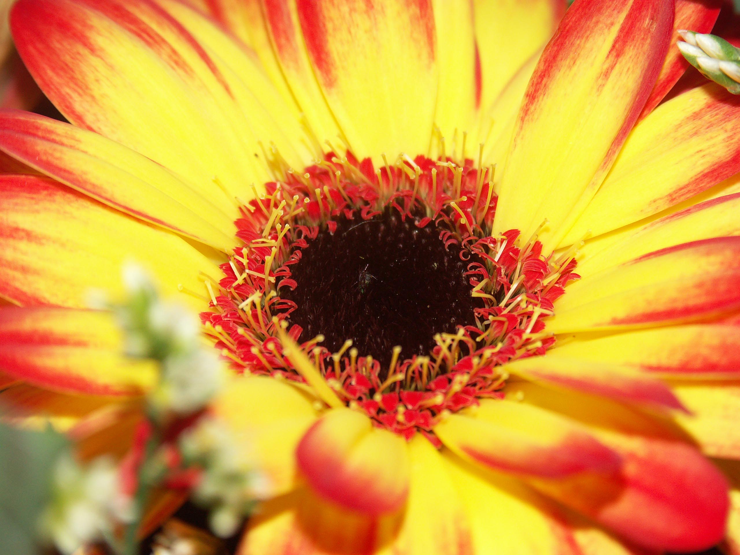
[[[740,50],[719,36],[680,30],[684,58],[702,74],[734,95],[740,94]]]

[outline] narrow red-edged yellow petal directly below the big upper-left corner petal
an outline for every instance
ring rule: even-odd
[[[214,206],[159,164],[101,135],[41,115],[2,111],[0,149],[137,218],[217,249],[234,244],[234,206]]]

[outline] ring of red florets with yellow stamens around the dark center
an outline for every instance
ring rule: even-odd
[[[403,156],[397,164],[375,169],[369,159],[357,161],[349,152],[343,158],[329,153],[300,174],[284,172],[279,182],[266,185],[266,194],[241,209],[236,235],[243,246],[221,266],[225,277],[218,286],[208,284],[212,311],[201,314],[206,330],[238,371],[301,382],[303,373],[286,356],[297,343],[347,406],[407,438],[420,431],[438,444],[432,429],[445,412],[476,405],[482,397],[502,397],[508,376],[501,365],[544,354],[553,345],[542,317],[552,314],[553,301],[577,277],[571,252],[545,258],[536,237],[521,241],[517,230],[491,235],[497,200],[493,175],[493,166],[483,169],[471,160],[459,164],[424,156]],[[358,349],[377,345],[372,343],[374,334],[362,330],[363,325],[382,325],[377,314],[383,313],[357,313],[357,303],[354,312],[340,306],[342,288],[354,288],[349,297],[356,301],[374,286],[377,277],[363,274],[363,260],[347,262],[355,268],[349,272],[351,280],[331,282],[337,289],[323,294],[325,314],[316,317],[314,307],[306,315],[298,304],[309,302],[297,293],[310,288],[303,285],[301,290],[295,277],[300,275],[301,282],[309,276],[320,279],[320,272],[298,271],[303,257],[309,258],[310,252],[315,259],[326,252],[327,244],[356,244],[348,243],[346,234],[372,223],[400,230],[395,232],[408,235],[406,241],[417,240],[419,234],[438,241],[447,257],[440,258],[448,267],[447,283],[456,295],[460,286],[465,288],[462,297],[450,298],[468,308],[460,309],[455,301],[453,316],[445,315],[446,329],[437,329],[431,337],[403,338],[417,352],[403,352],[398,343],[388,343],[391,347],[383,352]],[[404,244],[400,238],[394,248],[403,249]],[[361,257],[360,251],[342,255]],[[326,263],[336,267],[341,260],[334,257]],[[430,272],[439,270],[435,263],[440,264],[430,262],[406,278],[425,286],[434,279]],[[449,292],[439,294],[445,298]],[[426,308],[419,308],[420,317]],[[357,325],[351,320],[355,313]],[[363,324],[367,314],[375,320]],[[343,322],[340,329],[352,330],[363,340],[353,346],[352,337],[326,337],[326,331],[313,329],[315,321],[320,326],[332,323],[332,315]],[[309,322],[308,333],[301,320]]]

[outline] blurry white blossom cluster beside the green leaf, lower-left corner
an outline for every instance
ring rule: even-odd
[[[41,517],[41,530],[64,554],[112,534],[112,522],[131,517],[130,499],[120,491],[118,470],[101,457],[80,465],[70,454],[57,461],[52,502]]]

